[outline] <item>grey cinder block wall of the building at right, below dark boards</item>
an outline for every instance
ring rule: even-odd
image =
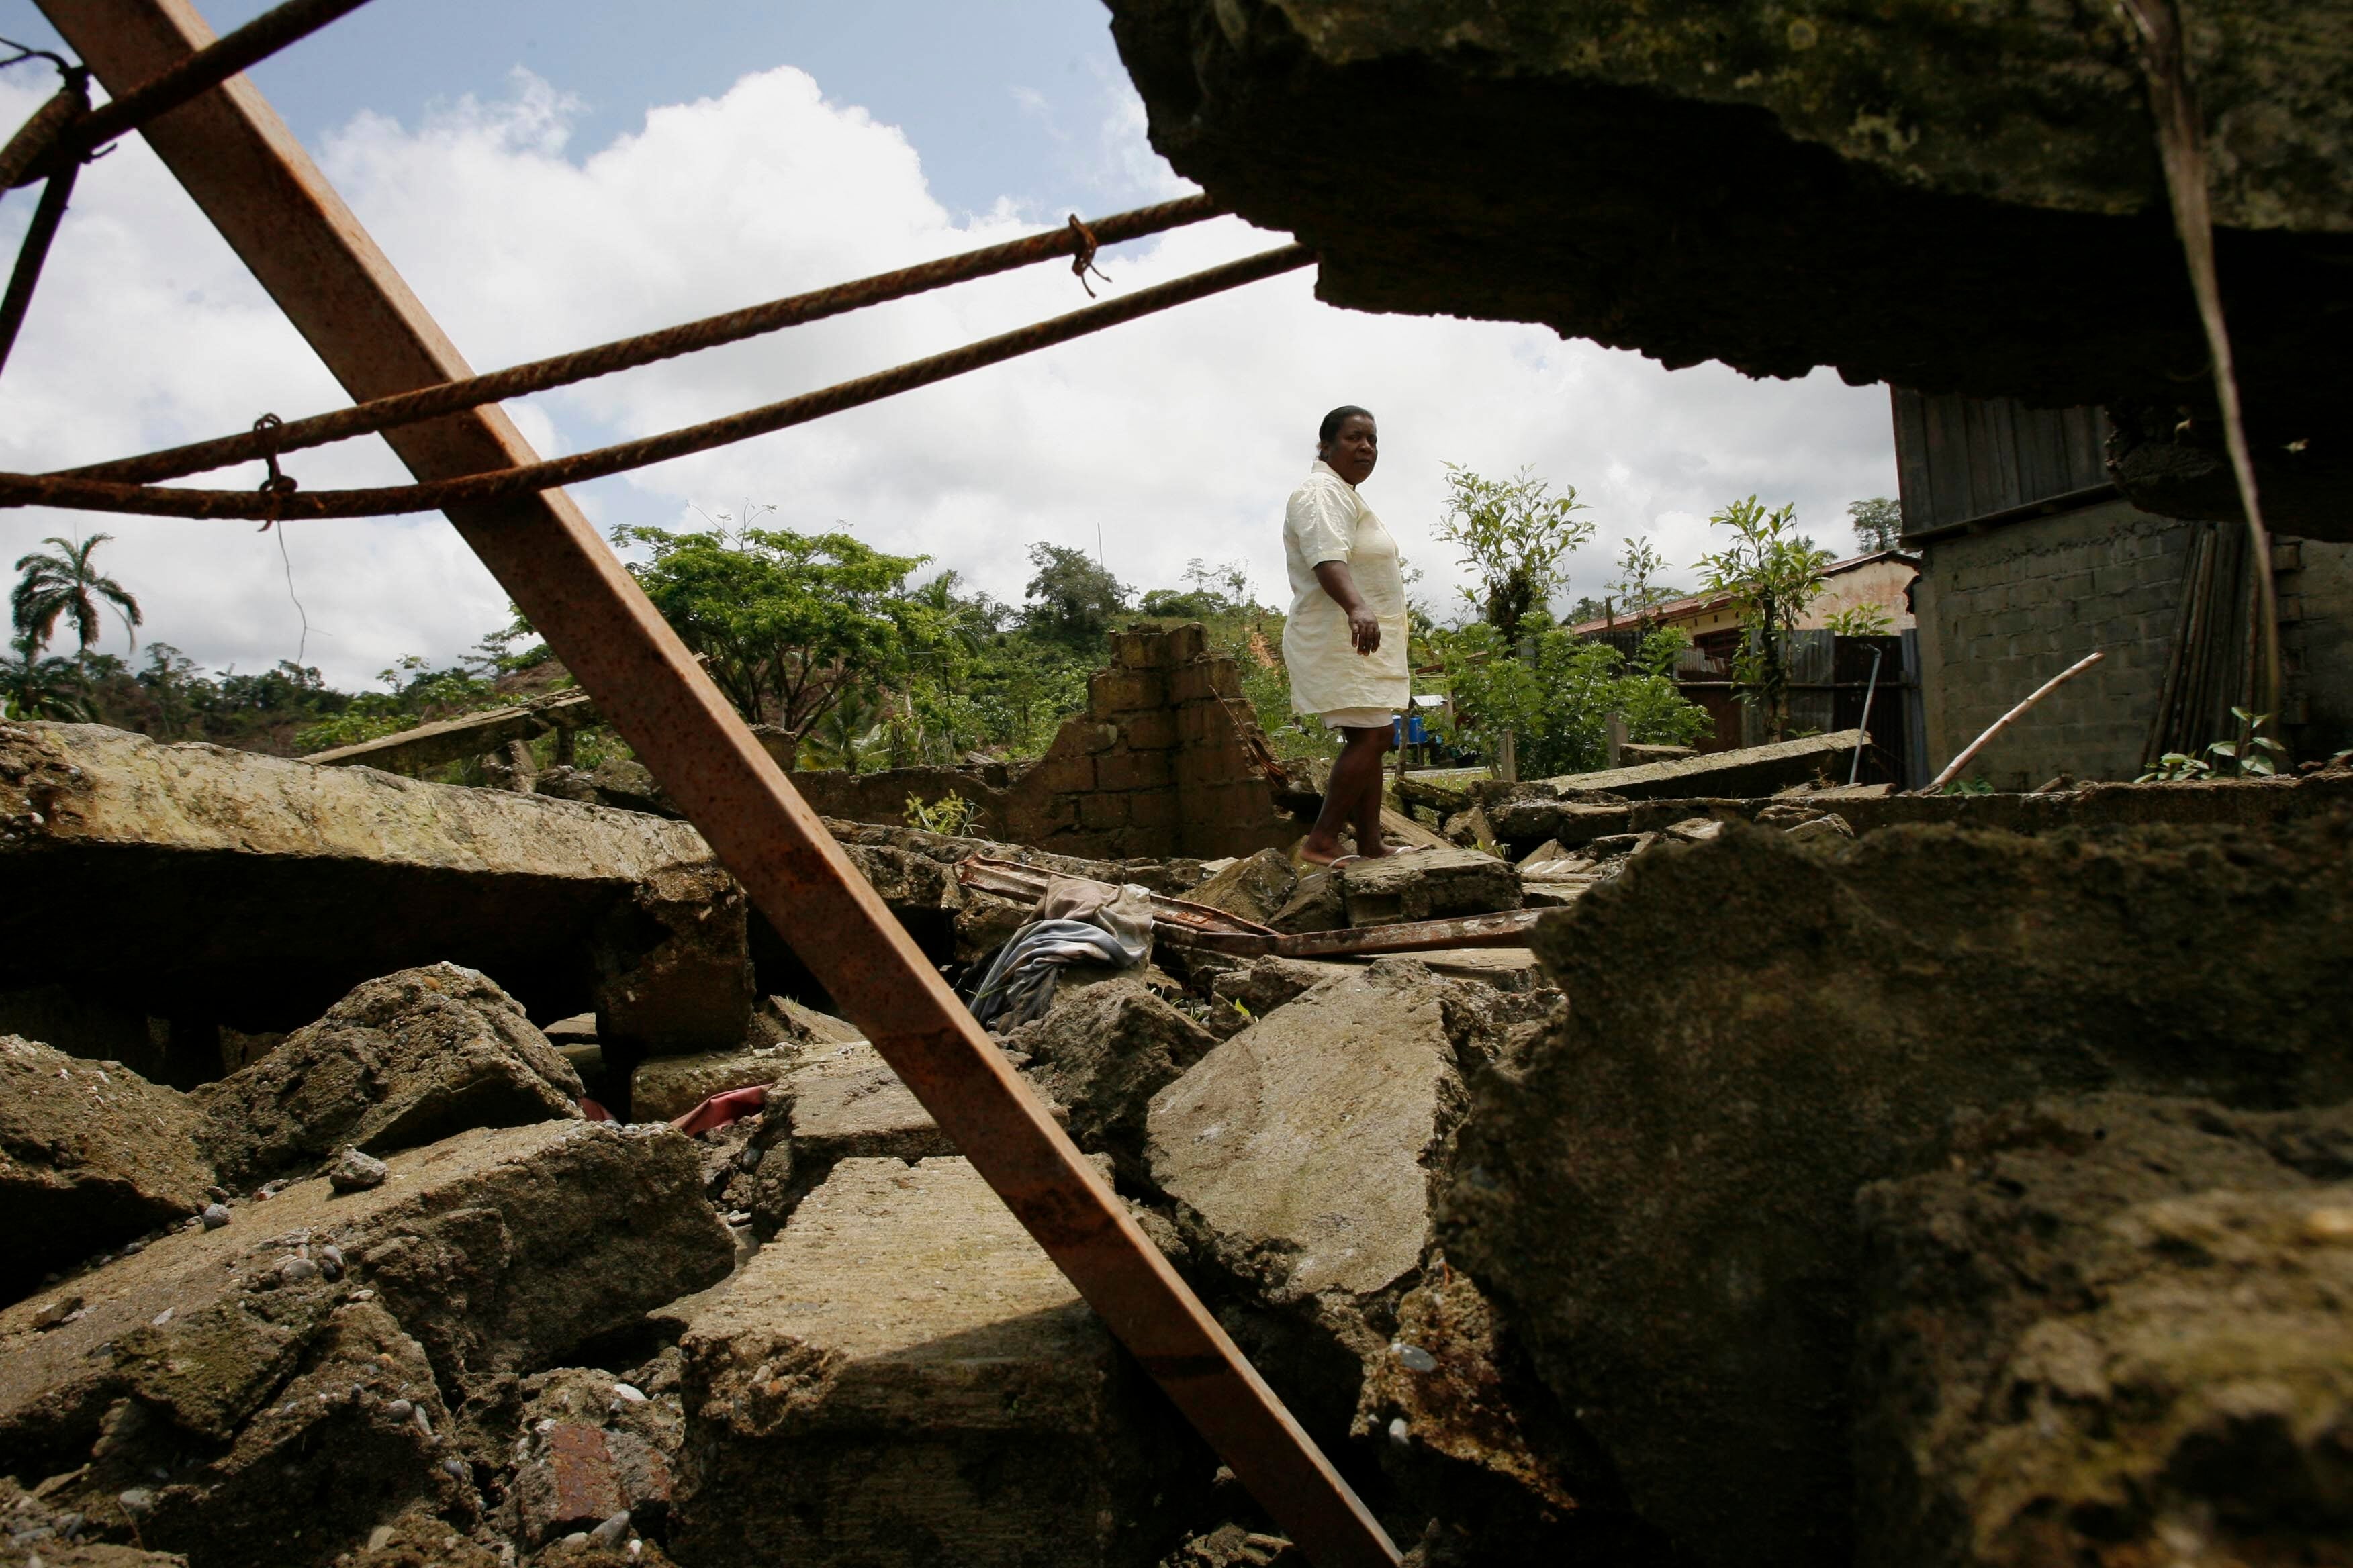
[[[1967,773],[2000,790],[2033,790],[2061,771],[2134,778],[2193,527],[2108,501],[1925,545],[1913,607],[1929,769],[2099,649],[2099,665],[2002,731]],[[2327,755],[2353,733],[2353,548],[2299,541],[2280,567],[2285,717],[2297,719],[2287,741],[2299,757]]]

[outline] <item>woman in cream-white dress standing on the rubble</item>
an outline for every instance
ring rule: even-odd
[[[1412,679],[1398,541],[1355,491],[1379,456],[1372,414],[1332,409],[1315,430],[1315,468],[1282,510],[1282,564],[1292,578],[1282,663],[1292,675],[1292,710],[1320,715],[1341,736],[1322,813],[1299,846],[1311,865],[1391,853],[1381,842],[1381,757]],[[1348,825],[1355,856],[1339,844]]]

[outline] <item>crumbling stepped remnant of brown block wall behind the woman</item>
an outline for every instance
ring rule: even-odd
[[[1007,835],[1068,856],[1247,856],[1287,844],[1280,771],[1231,658],[1200,625],[1115,632],[1087,712],[1005,799]]]

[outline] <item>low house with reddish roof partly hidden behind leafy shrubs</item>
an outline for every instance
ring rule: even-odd
[[[1918,651],[1911,585],[1920,557],[1873,550],[1824,567],[1824,588],[1805,614],[1788,649],[1788,722],[1793,733],[1868,729],[1871,752],[1864,783],[1915,785],[1925,780],[1920,733]],[[1880,637],[1838,637],[1831,621],[1842,611],[1885,611]],[[1633,658],[1652,628],[1689,632],[1692,646],[1675,663],[1675,689],[1708,712],[1711,733],[1697,750],[1729,752],[1762,745],[1758,715],[1737,698],[1732,656],[1741,646],[1741,618],[1732,595],[1692,595],[1654,604],[1640,616],[1600,616],[1569,630],[1609,642]]]

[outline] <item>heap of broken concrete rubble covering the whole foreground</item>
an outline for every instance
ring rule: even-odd
[[[94,802],[202,776],[261,858],[320,858],[268,820],[318,804],[299,764],[7,743],[80,757]],[[640,832],[320,771],[522,844]],[[1565,905],[1532,952],[1160,940],[998,1037],[1426,1568],[2332,1561],[2339,778],[1492,785],[1447,804],[1508,858],[1329,872],[833,832],[951,983],[1031,917],[972,856],[1297,931]],[[191,1013],[129,980],[120,1027],[99,966],[14,992],[0,1020],[61,1039],[0,1039],[0,1568],[1301,1561],[788,933],[640,820],[659,856],[508,943],[525,990],[456,947],[325,997],[249,969],[278,990],[209,1013],[191,1084],[111,1051],[191,1070]],[[456,889],[539,875],[447,865],[419,823],[400,853]],[[0,853],[96,863],[73,832]],[[336,860],[353,898],[388,858]],[[64,950],[16,936],[24,976]],[[732,1121],[664,1126],[718,1093]]]

